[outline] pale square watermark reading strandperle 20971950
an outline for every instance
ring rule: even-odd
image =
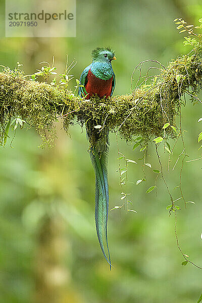
[[[6,37],[76,37],[76,0],[6,0]]]

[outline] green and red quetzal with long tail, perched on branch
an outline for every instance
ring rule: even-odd
[[[110,47],[97,47],[92,51],[92,63],[81,74],[79,95],[90,99],[97,95],[99,98],[112,96],[115,88],[115,74],[112,68],[112,60],[116,60]],[[87,136],[89,138],[88,124],[86,123]],[[109,131],[105,128],[102,135],[96,130],[97,140],[89,147],[90,159],[95,172],[95,225],[97,237],[103,255],[110,264],[110,252],[108,247],[107,221],[109,211],[108,188],[108,151]],[[106,255],[103,239],[106,240],[109,258]]]

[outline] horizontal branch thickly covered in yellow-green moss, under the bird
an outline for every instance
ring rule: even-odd
[[[96,125],[100,125],[96,129],[100,134],[108,127],[125,140],[134,135],[148,140],[162,135],[165,123],[175,126],[185,93],[199,102],[201,75],[201,49],[197,48],[193,54],[161,66],[160,74],[149,84],[140,85],[129,94],[85,100],[59,85],[26,80],[20,69],[5,68],[0,73],[0,139],[3,143],[11,118],[21,117],[43,136],[44,130],[53,131],[54,122],[61,116],[67,132],[74,121],[93,129],[91,143]],[[166,134],[172,136],[172,129],[167,128]]]

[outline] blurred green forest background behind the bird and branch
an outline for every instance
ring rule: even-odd
[[[73,70],[79,78],[90,63],[96,46],[111,45],[117,85],[114,94],[130,90],[133,68],[142,60],[156,59],[167,64],[188,53],[172,22],[182,17],[196,24],[202,17],[200,0],[102,1],[77,0],[76,38],[5,38],[4,2],[1,0],[0,64],[14,68],[23,64],[26,74],[39,62],[52,62],[63,72],[66,54],[78,61]],[[137,78],[138,75],[136,75]],[[197,135],[201,125],[199,105],[188,98],[182,109],[182,127],[189,160],[199,158]],[[163,181],[155,191],[156,175],[142,161],[129,167],[126,192],[130,192],[135,213],[111,211],[109,245],[113,269],[103,258],[94,226],[94,173],[87,153],[85,130],[70,128],[71,138],[57,125],[56,147],[40,149],[33,129],[17,130],[10,147],[0,153],[0,302],[4,303],[193,303],[201,290],[201,271],[181,265],[182,256],[174,236],[174,216],[168,216],[169,195]],[[11,139],[13,133],[10,133]],[[10,139],[10,141],[11,141]],[[111,134],[109,154],[110,209],[121,205],[117,173],[116,136]],[[173,140],[170,140],[173,144]],[[120,140],[126,158],[142,157],[138,148]],[[179,143],[171,167],[182,151]],[[162,153],[164,167],[168,155]],[[154,144],[149,145],[148,163],[160,169]],[[165,177],[175,198],[181,162]],[[201,260],[201,162],[185,163],[182,188],[186,200],[178,205],[178,236],[183,252],[199,266]]]

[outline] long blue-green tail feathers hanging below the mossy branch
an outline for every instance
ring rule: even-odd
[[[108,135],[107,135],[108,137]],[[109,211],[109,187],[108,187],[108,142],[102,142],[97,148],[90,147],[89,154],[95,172],[95,225],[100,248],[107,262],[110,264],[110,251],[108,246],[107,222]],[[105,252],[103,239],[106,240],[108,256]]]

